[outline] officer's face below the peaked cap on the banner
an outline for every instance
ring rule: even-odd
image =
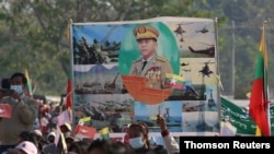
[[[156,52],[157,42],[155,39],[138,39],[138,48],[144,57],[149,58]]]

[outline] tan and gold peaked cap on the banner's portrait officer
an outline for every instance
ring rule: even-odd
[[[135,29],[134,29],[134,35],[136,37],[136,39],[148,39],[148,38],[153,38],[153,39],[157,39],[158,36],[159,36],[159,32],[152,27],[152,26],[137,26]]]

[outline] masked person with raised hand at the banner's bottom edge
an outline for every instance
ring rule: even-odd
[[[170,135],[164,118],[160,115],[158,115],[157,125],[161,128],[161,134],[167,149],[164,149],[162,145],[151,145],[148,127],[146,123],[136,122],[130,125],[127,130],[127,135],[129,138],[128,143],[135,150],[135,153],[149,154],[156,150],[161,150],[161,154],[180,153],[179,144]]]

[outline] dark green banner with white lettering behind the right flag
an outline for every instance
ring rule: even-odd
[[[221,99],[221,121],[225,121],[225,118],[229,118],[230,123],[237,128],[238,134],[255,134],[255,122],[249,116],[249,111],[244,107],[239,107],[233,104],[231,100],[220,97]],[[274,106],[270,108],[271,115],[271,131],[274,135]]]

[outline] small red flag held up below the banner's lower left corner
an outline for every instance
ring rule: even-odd
[[[90,138],[90,139],[93,139],[95,137],[95,133],[96,133],[96,129],[95,128],[92,128],[92,127],[89,127],[89,126],[81,126],[81,125],[78,125],[76,127],[76,138]]]

